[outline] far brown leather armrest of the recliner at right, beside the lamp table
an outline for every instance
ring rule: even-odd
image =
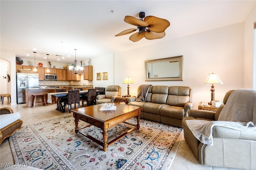
[[[208,119],[214,121],[215,112],[206,111],[206,110],[197,110],[197,109],[190,109],[188,111],[188,116],[194,117],[196,119]]]

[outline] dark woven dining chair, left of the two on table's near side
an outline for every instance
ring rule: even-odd
[[[76,109],[76,103],[78,104],[78,108],[80,108],[80,90],[74,89],[74,90],[68,90],[68,100],[64,101],[64,106],[68,105],[69,113],[71,113],[71,105],[75,104]]]

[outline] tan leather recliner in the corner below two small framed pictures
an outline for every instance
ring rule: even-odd
[[[106,87],[105,95],[98,95],[97,105],[101,103],[114,103],[116,101],[116,97],[121,96],[121,87],[119,85],[109,85]]]

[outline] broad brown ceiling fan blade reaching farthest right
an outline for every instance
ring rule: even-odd
[[[144,21],[150,25],[148,29],[153,32],[164,32],[166,28],[170,26],[170,22],[168,20],[155,16],[146,16]]]

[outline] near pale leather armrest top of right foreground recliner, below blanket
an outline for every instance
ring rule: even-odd
[[[213,127],[214,138],[256,140],[256,130],[241,131],[232,128],[215,126]]]

